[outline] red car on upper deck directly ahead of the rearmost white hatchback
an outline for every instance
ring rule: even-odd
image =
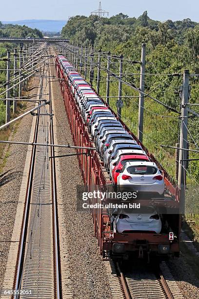
[[[117,185],[117,178],[119,175],[119,171],[123,168],[126,162],[136,162],[136,161],[150,161],[149,157],[146,155],[135,155],[135,154],[126,154],[121,155],[117,162],[113,164],[114,169],[112,171],[112,182],[114,185]]]

